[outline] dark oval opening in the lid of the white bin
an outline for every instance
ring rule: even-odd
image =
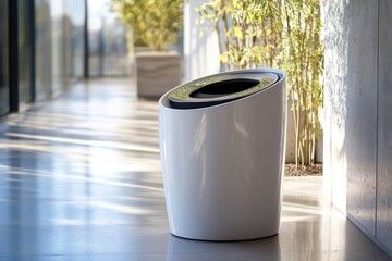
[[[247,78],[237,78],[237,79],[228,79],[210,85],[206,85],[195,91],[189,96],[193,98],[215,98],[233,95],[240,91],[244,91],[252,87],[260,84],[257,79],[247,79]]]

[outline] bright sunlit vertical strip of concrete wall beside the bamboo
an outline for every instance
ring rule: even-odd
[[[324,55],[324,195],[346,211],[347,162],[345,117],[347,97],[348,24],[345,9],[350,1],[324,1],[322,7]]]

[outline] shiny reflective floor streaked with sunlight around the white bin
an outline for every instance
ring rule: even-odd
[[[101,79],[0,120],[0,260],[388,260],[317,177],[285,178],[277,236],[171,236],[157,119],[128,80]]]

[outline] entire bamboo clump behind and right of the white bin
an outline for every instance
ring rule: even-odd
[[[323,92],[320,0],[212,0],[196,12],[218,33],[222,71],[286,71],[296,166],[314,164]]]

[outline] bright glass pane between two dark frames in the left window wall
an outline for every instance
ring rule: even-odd
[[[36,0],[37,97],[61,94],[84,76],[85,1]]]

